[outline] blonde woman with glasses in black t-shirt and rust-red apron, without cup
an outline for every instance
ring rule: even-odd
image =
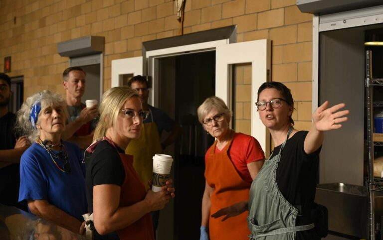
[[[140,137],[149,113],[128,87],[106,91],[99,111],[94,142],[86,150],[91,154],[86,185],[94,240],[154,240],[150,212],[174,198],[172,180],[160,192],[146,191],[133,156],[125,154],[130,140]]]

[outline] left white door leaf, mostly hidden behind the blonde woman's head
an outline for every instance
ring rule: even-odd
[[[143,75],[143,57],[112,61],[112,88],[123,85],[125,76]]]

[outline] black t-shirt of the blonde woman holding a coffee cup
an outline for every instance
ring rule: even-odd
[[[118,153],[124,150],[114,148],[108,141],[101,141],[94,150],[86,170],[86,189],[89,212],[93,213],[93,186],[100,184],[115,184],[122,186],[125,180],[125,168]],[[94,240],[119,240],[117,233],[99,235],[94,232]]]

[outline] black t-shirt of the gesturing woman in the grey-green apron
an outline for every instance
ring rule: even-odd
[[[319,153],[317,151],[306,154],[303,144],[307,131],[298,131],[282,149],[281,160],[276,170],[279,190],[289,203],[310,208],[313,206],[319,172]],[[274,148],[272,156],[278,154],[281,145]],[[296,225],[312,222],[297,218]],[[297,240],[319,239],[315,230],[297,232]]]

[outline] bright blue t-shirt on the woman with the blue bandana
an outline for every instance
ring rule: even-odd
[[[33,143],[21,156],[20,191],[18,201],[47,200],[68,215],[84,221],[87,213],[85,165],[77,145],[65,142],[71,173],[60,171],[49,153]],[[55,152],[56,153],[56,152]],[[63,162],[56,160],[63,169]]]

